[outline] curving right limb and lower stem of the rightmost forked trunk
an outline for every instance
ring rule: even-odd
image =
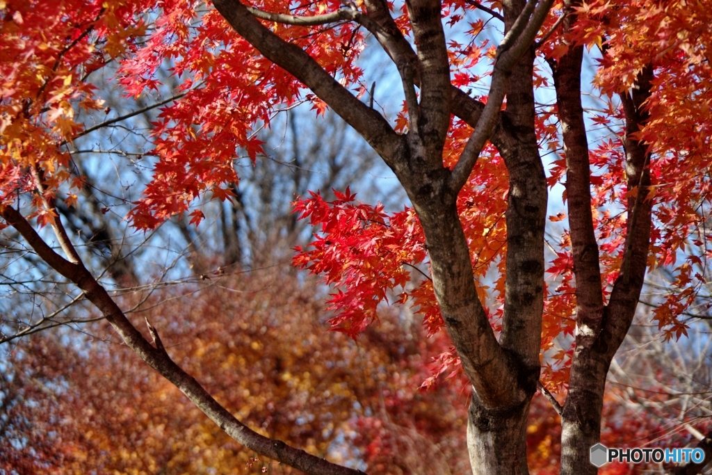
[[[652,70],[644,71],[637,78],[634,95],[622,94],[626,109],[624,144],[628,189],[638,186],[638,196],[642,197],[646,196],[646,189],[650,184],[648,167],[646,167],[649,152],[646,145],[636,140],[634,134],[646,120],[646,112],[642,105],[650,95],[651,78]],[[629,197],[627,209],[629,213],[625,239],[627,251],[609,303],[600,315],[592,313],[585,317],[585,323],[577,321],[576,348],[571,364],[569,393],[562,413],[562,446],[567,445],[571,449],[562,452],[562,474],[580,473],[582,464],[588,462],[586,449],[600,440],[601,411],[607,372],[615,352],[633,321],[644,283],[651,232],[651,202],[647,199],[637,200],[637,197]],[[577,287],[579,285],[577,277]],[[577,289],[577,295],[578,293]],[[584,318],[577,318],[579,319],[584,320]],[[600,323],[597,323],[598,321]],[[587,467],[585,473],[595,473],[595,468],[584,466]]]

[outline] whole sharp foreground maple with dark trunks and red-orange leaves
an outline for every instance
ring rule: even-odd
[[[149,323],[145,338],[85,266],[58,207],[80,204],[73,147],[124,118],[90,125],[104,109],[93,78],[102,71],[115,73],[127,97],[167,95],[152,105],[160,108],[145,145],[152,179],[128,215],[140,230],[184,213],[199,225],[205,215],[194,202],[230,199],[238,151],[256,159],[252,131],[280,105],[330,108],[371,145],[412,207],[385,212],[348,188],[299,200],[297,212],[320,232],[295,263],[335,286],[331,323],[353,337],[393,294],[419,308],[429,335],[447,332],[452,348],[436,373],[455,367],[473,388],[473,473],[528,471],[538,388],[560,412],[560,472],[595,472],[589,448],[601,437],[609,365],[648,268],[673,276],[656,303],[659,330],[688,331],[679,316],[708,278],[710,237],[712,12],[702,2],[2,0],[0,8],[4,225],[145,362],[262,456],[310,474],[357,472],[248,429],[172,360],[160,328]],[[503,25],[494,42],[479,36],[490,21]],[[367,38],[402,80],[404,107],[392,121],[364,99],[374,94],[357,63]],[[600,53],[598,105],[587,111],[586,48]],[[166,62],[172,83],[162,77]],[[535,87],[552,80],[553,103],[542,105]],[[483,85],[484,95],[464,90]],[[553,160],[543,160],[543,147]],[[548,220],[548,190],[559,183],[565,208]],[[559,241],[546,241],[547,221],[562,219]],[[427,278],[411,288],[417,273]]]

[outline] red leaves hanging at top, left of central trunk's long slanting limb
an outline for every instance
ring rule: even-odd
[[[120,82],[130,95],[159,90],[156,72],[169,61],[181,82],[181,100],[162,108],[151,135],[155,154],[152,182],[131,212],[139,229],[152,229],[169,216],[184,212],[206,192],[231,196],[236,183],[234,160],[261,152],[253,126],[268,125],[278,108],[301,99],[302,86],[286,71],[256,53],[227,27],[215,10],[200,11],[197,1],[164,1],[155,31],[120,68]],[[290,4],[266,1],[254,6],[273,12],[315,14],[337,9],[338,2]],[[282,38],[305,49],[345,85],[357,83],[361,70],[353,64],[362,35],[351,25],[305,28],[271,24]],[[312,35],[318,33],[319,41]],[[315,108],[322,104],[315,100]],[[323,110],[323,109],[322,109]],[[199,223],[202,214],[193,214]]]

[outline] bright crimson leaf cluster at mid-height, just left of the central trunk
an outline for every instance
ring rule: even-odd
[[[356,338],[377,320],[377,307],[387,301],[389,291],[400,288],[398,300],[407,299],[407,266],[424,261],[424,237],[412,209],[389,215],[382,205],[354,202],[348,188],[334,194],[333,202],[318,193],[295,202],[295,212],[320,226],[320,234],[310,250],[296,249],[294,263],[323,273],[326,283],[337,286],[330,298],[337,315],[330,322]]]

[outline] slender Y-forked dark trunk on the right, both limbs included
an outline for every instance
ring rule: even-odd
[[[567,33],[575,24],[572,7],[579,0],[565,0]],[[561,414],[562,475],[594,475],[590,448],[600,441],[603,397],[609,365],[635,315],[643,286],[651,228],[651,202],[644,197],[650,185],[650,156],[634,139],[647,119],[644,102],[650,95],[652,73],[647,68],[631,93],[621,94],[625,112],[625,174],[628,189],[638,188],[627,200],[625,251],[619,277],[604,305],[600,252],[591,211],[590,161],[581,103],[583,46],[570,46],[558,61],[550,61],[557,96],[566,156],[566,191],[570,236],[576,278],[575,351],[569,392]],[[623,170],[620,170],[621,174]]]

